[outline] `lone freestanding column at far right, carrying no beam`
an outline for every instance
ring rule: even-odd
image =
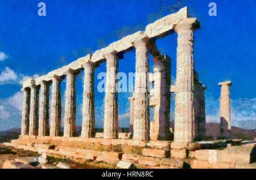
[[[229,87],[231,82],[218,83],[221,87],[220,98],[220,121],[221,121],[221,136],[229,138],[231,135],[231,120],[230,120],[230,98]]]

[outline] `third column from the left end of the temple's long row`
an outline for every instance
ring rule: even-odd
[[[49,135],[49,84],[46,81],[40,83],[39,106],[39,136]]]

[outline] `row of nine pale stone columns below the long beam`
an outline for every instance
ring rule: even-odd
[[[177,75],[176,107],[175,107],[175,141],[192,142],[195,132],[193,131],[193,31],[195,30],[194,18],[182,20],[175,25],[177,32]],[[135,65],[135,91],[134,91],[134,115],[133,115],[133,139],[149,139],[149,97],[148,97],[148,38],[142,38],[133,42],[136,49]],[[117,52],[104,55],[106,59],[106,92],[105,92],[105,115],[104,115],[104,138],[118,138],[118,105],[117,105],[117,74],[118,57]],[[82,104],[82,132],[83,138],[94,136],[94,89],[93,74],[94,64],[91,61],[84,62],[84,92]],[[76,74],[77,71],[69,69],[66,72],[67,87],[65,92],[65,113],[64,113],[64,136],[75,136],[75,115],[76,115]],[[160,76],[164,75],[163,72]],[[40,110],[38,127],[38,87],[35,80],[31,80],[30,88],[24,88],[23,114],[22,114],[22,135],[60,135],[60,77],[52,77],[52,103],[51,116],[49,117],[49,83],[40,83]],[[164,84],[164,82],[163,82]],[[161,85],[162,87],[162,85]],[[30,101],[30,106],[28,106]],[[163,102],[164,103],[164,102]],[[28,113],[29,111],[29,113]],[[159,116],[165,112],[159,111]],[[30,125],[27,127],[29,117]],[[51,120],[50,131],[48,132],[48,121]],[[28,130],[27,130],[28,128]],[[37,132],[39,130],[39,132]],[[162,131],[162,130],[161,130]]]

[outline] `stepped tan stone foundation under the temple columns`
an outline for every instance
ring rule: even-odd
[[[188,148],[174,149],[170,147],[177,144],[168,141],[20,136],[5,145],[35,152],[44,150],[47,156],[61,155],[77,162],[131,162],[137,168],[256,168],[255,143],[243,144],[241,140],[196,142],[188,144]]]

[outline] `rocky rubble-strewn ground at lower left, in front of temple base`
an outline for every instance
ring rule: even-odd
[[[75,169],[90,169],[90,168],[115,168],[114,165],[106,164],[101,161],[75,161],[63,158],[59,155],[47,156],[45,163],[40,163],[40,156],[36,152],[25,151],[14,147],[5,147],[0,144],[0,168],[32,168],[32,169],[56,169],[56,168],[75,168]]]

